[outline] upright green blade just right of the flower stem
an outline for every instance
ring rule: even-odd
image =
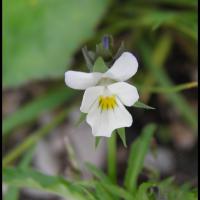
[[[142,130],[141,136],[131,145],[124,184],[132,193],[135,192],[137,178],[142,170],[144,158],[155,130],[155,124],[146,125]]]

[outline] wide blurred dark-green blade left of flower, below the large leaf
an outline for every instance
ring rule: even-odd
[[[35,120],[40,114],[50,111],[74,97],[76,92],[67,87],[55,88],[19,108],[3,120],[3,135],[8,135],[14,128]]]

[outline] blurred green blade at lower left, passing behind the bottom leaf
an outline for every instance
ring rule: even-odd
[[[19,163],[20,168],[26,168],[30,165],[30,162],[33,158],[33,153],[34,153],[35,148],[32,147],[30,148],[22,158],[22,160]],[[3,196],[4,200],[17,200],[19,199],[19,188],[15,186],[8,186],[8,189]]]

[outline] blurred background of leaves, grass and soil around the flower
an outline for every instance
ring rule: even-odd
[[[156,156],[149,152],[145,167],[196,187],[197,0],[3,1],[3,164],[71,178],[76,170],[90,177],[86,161],[105,169],[106,141],[95,150],[90,127],[76,126],[83,92],[64,83],[68,69],[87,71],[81,48],[95,50],[105,34],[116,51],[124,42],[137,57],[130,81],[156,108],[129,108],[134,123],[126,129],[128,148],[118,142],[119,183],[130,144],[154,122]],[[59,198],[24,189],[20,199]]]

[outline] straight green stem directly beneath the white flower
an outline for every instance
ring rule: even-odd
[[[116,144],[116,134],[113,133],[112,137],[108,139],[108,176],[110,180],[114,183],[117,182],[117,170],[116,170],[116,152],[117,152],[117,144]]]

